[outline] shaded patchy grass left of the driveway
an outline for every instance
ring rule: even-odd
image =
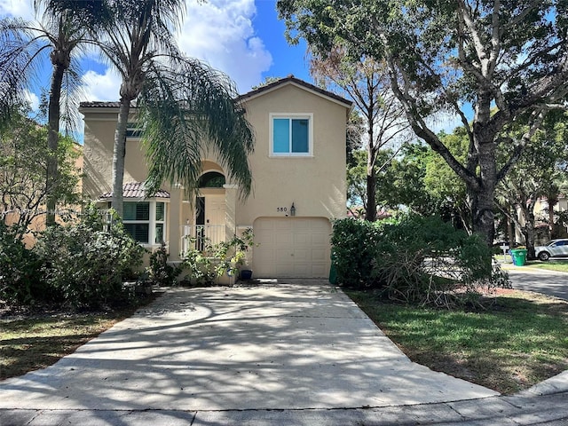
[[[151,300],[154,297],[143,299],[142,304]],[[0,380],[55,364],[116,322],[130,317],[138,306],[110,312],[35,313],[0,319]]]

